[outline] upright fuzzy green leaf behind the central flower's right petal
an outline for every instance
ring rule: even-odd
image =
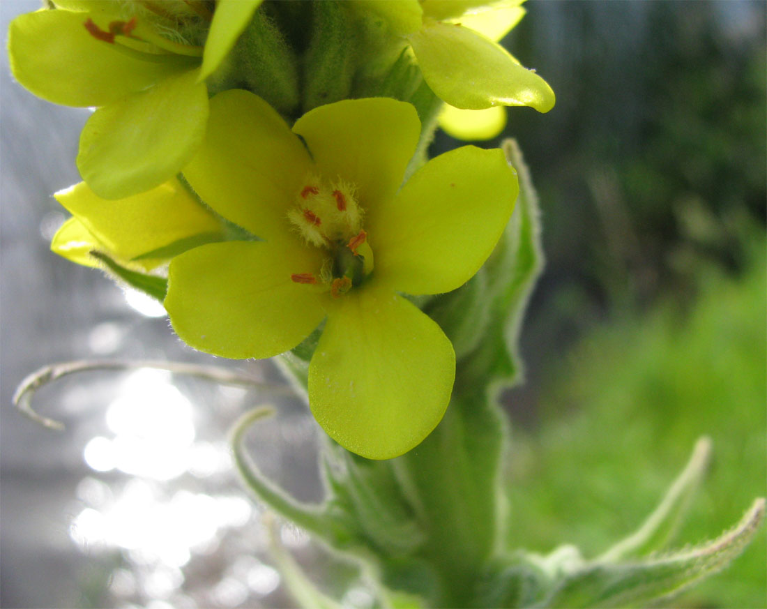
[[[478,384],[509,386],[519,380],[522,364],[517,343],[522,315],[543,268],[538,196],[515,140],[503,143],[506,157],[518,172],[519,196],[512,219],[485,263],[487,287],[483,301],[489,323],[476,314],[478,347],[466,355],[456,371],[456,391]],[[481,324],[479,324],[481,322]]]

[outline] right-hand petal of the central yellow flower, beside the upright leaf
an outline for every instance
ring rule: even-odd
[[[463,285],[498,242],[517,193],[502,150],[463,146],[430,160],[368,217],[376,281],[408,294]]]

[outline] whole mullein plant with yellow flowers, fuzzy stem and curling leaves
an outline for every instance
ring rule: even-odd
[[[602,555],[506,542],[497,398],[520,378],[538,203],[512,140],[426,150],[439,124],[481,139],[506,106],[553,107],[497,42],[520,4],[55,0],[10,26],[19,83],[95,107],[51,249],[163,302],[200,351],[278,358],[326,434],[324,502],[296,502],[249,459],[268,410],[235,425],[235,463],[275,512],[357,560],[381,607],[657,603],[729,564],[764,512],[758,499],[712,542],[669,549],[704,439]],[[340,606],[275,551],[302,604]]]

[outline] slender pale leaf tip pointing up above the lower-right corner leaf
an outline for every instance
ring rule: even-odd
[[[706,475],[710,459],[711,440],[701,438],[693,449],[690,462],[644,525],[634,535],[607,550],[597,561],[623,561],[662,550],[676,534],[690,509],[700,482]]]

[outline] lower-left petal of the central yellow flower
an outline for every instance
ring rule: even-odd
[[[324,318],[317,291],[291,281],[316,272],[310,249],[269,242],[211,243],[176,256],[165,308],[176,334],[199,351],[272,357],[300,343]]]

